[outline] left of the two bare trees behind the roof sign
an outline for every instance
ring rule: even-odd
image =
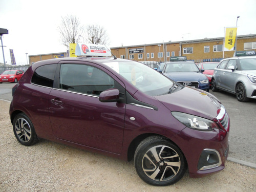
[[[79,19],[73,15],[61,17],[61,25],[58,27],[62,44],[69,47],[69,44],[76,44],[79,36],[83,33],[84,27],[80,25]]]

